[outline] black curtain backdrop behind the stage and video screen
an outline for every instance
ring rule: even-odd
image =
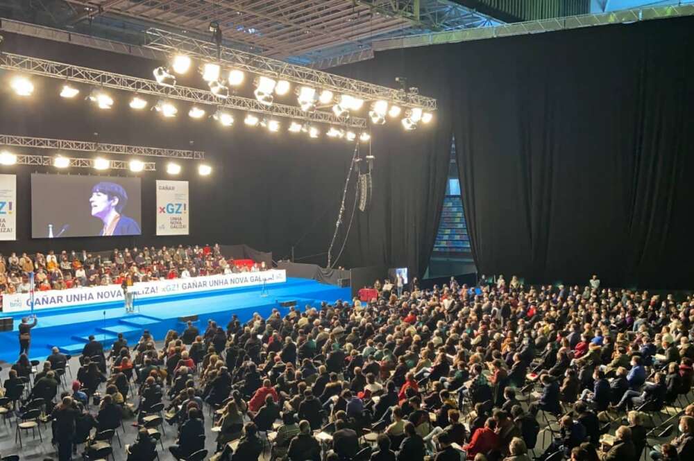
[[[86,67],[152,78],[160,62],[105,53],[69,44],[6,34],[4,51],[69,62]],[[397,75],[390,72],[390,80]],[[210,119],[192,120],[187,116],[190,105],[176,101],[176,119],[164,120],[151,110],[130,110],[128,92],[108,90],[115,99],[110,111],[99,110],[85,96],[89,87],[74,100],[58,96],[62,81],[33,78],[35,93],[20,99],[11,94],[4,83],[11,73],[0,73],[0,133],[33,137],[76,139],[123,143],[136,146],[191,148],[205,150],[207,162],[214,171],[210,177],[199,177],[196,164],[181,161],[189,180],[191,200],[191,235],[181,237],[155,236],[156,179],[168,179],[166,161],[158,161],[156,173],[142,173],[142,236],[113,238],[65,238],[56,241],[32,239],[30,226],[29,173],[55,172],[55,168],[0,166],[0,173],[17,174],[18,235],[16,242],[0,243],[0,252],[37,252],[87,248],[109,250],[133,245],[174,245],[178,243],[244,243],[257,250],[272,252],[275,259],[286,259],[294,246],[298,261],[327,263],[328,245],[335,230],[341,193],[348,172],[354,145],[325,137],[308,139],[305,134],[282,132],[270,134],[261,128],[248,128],[245,114],[234,112],[236,123],[224,129]],[[247,76],[244,92],[251,94],[252,76]],[[179,78],[181,85],[201,84],[196,76]],[[247,95],[246,95],[247,96]],[[145,96],[153,105],[156,99]],[[251,96],[253,97],[253,96]],[[293,93],[278,102],[294,104]],[[294,100],[294,101],[292,101]],[[210,107],[208,107],[209,109]],[[363,111],[364,113],[366,110]],[[450,117],[443,139],[450,139]],[[328,126],[319,127],[322,132]],[[422,130],[403,134],[397,123],[373,130],[371,152],[375,155],[373,201],[365,213],[357,210],[348,242],[337,266],[366,265],[408,266],[414,273],[423,273],[433,247],[441,209],[448,168],[448,148],[439,148],[434,134]],[[442,142],[444,145],[446,142]],[[362,144],[362,155],[369,151]],[[46,150],[22,150],[26,153],[53,155]],[[88,153],[80,155],[91,157]],[[111,156],[118,158],[117,156]],[[151,159],[146,159],[150,161]],[[87,169],[72,169],[71,174],[94,174]],[[110,175],[129,174],[110,171]],[[353,206],[356,177],[350,183],[346,214],[333,259],[341,249],[347,233]],[[56,207],[81,206],[61,200],[56,191]]]

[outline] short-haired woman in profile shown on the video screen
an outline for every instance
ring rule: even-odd
[[[139,235],[139,225],[124,214],[123,209],[128,203],[128,193],[120,184],[115,182],[99,182],[92,187],[89,199],[92,216],[101,219],[102,236],[110,235]]]

